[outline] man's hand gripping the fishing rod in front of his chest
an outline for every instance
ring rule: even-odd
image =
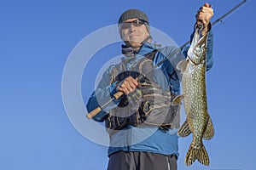
[[[125,80],[117,85],[117,90],[123,92],[125,95],[128,95],[133,92],[138,87],[138,85],[139,83],[136,79],[133,77],[126,77]]]

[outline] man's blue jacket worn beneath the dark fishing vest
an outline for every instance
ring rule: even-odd
[[[192,34],[193,37],[193,34]],[[213,46],[212,31],[208,33],[207,39],[207,71],[212,67],[212,46]],[[144,54],[153,51],[154,45],[150,43],[143,44],[139,50],[135,61],[141,59]],[[162,59],[172,54],[177,48],[168,46],[160,48],[154,57],[154,65]],[[177,63],[185,59],[189,47],[183,48],[177,54],[174,54],[170,59],[167,59],[158,67],[164,73],[165,77],[156,76],[156,82],[163,89],[172,89],[172,93],[180,94],[180,72],[176,70]],[[127,64],[129,67],[129,64]],[[93,111],[96,107],[104,105],[109,99],[113,98],[116,91],[116,84],[110,84],[110,72],[113,66],[110,66],[104,72],[101,82],[99,82],[96,90],[91,94],[86,105],[87,111]],[[102,109],[93,119],[96,122],[103,122],[108,117],[108,112],[119,105],[120,99],[114,99],[106,107]],[[108,156],[119,150],[125,151],[148,151],[160,153],[164,155],[176,154],[178,156],[177,145],[177,129],[162,130],[159,127],[132,127],[128,126],[125,129],[119,130],[117,133],[110,135],[110,146],[108,148]]]

